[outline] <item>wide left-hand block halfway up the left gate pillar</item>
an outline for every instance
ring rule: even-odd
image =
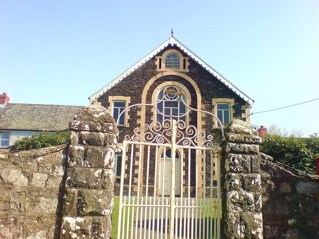
[[[69,188],[99,189],[102,169],[97,168],[68,168],[66,186]]]

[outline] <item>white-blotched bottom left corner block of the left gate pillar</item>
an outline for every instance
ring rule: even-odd
[[[63,217],[61,239],[90,239],[92,217]]]

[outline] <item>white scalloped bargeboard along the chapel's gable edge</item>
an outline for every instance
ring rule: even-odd
[[[235,87],[232,83],[230,83],[228,80],[226,80],[222,75],[220,75],[217,71],[215,71],[213,68],[211,68],[207,63],[205,63],[202,59],[200,59],[198,56],[196,56],[192,51],[190,51],[186,46],[184,46],[182,43],[180,43],[175,37],[171,36],[166,41],[164,41],[160,46],[155,48],[151,53],[149,53],[147,56],[142,58],[140,61],[138,61],[136,64],[134,64],[132,67],[130,67],[128,70],[123,72],[121,75],[119,75],[117,78],[115,78],[113,81],[111,81],[109,84],[107,84],[105,87],[103,87],[101,90],[99,90],[97,93],[89,97],[89,100],[91,104],[93,104],[93,101],[99,98],[102,94],[113,88],[116,84],[124,80],[127,76],[132,74],[135,70],[142,67],[146,62],[150,61],[154,56],[156,56],[162,49],[164,49],[168,45],[176,45],[181,51],[183,51],[186,55],[188,55],[190,58],[195,60],[198,64],[202,66],[206,71],[208,71],[211,75],[216,77],[220,82],[222,82],[226,87],[228,87],[230,90],[232,90],[236,95],[238,95],[240,98],[242,98],[245,102],[247,102],[249,105],[253,105],[254,100],[249,98],[246,94],[244,94],[242,91],[240,91],[237,87]]]

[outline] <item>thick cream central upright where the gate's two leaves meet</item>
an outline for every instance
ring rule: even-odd
[[[172,120],[171,127],[171,183],[170,183],[170,215],[169,215],[169,239],[174,236],[175,218],[175,153],[176,153],[176,120]]]

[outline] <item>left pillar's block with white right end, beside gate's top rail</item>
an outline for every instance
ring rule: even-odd
[[[113,149],[98,146],[87,146],[84,152],[85,167],[115,167],[115,152]]]

